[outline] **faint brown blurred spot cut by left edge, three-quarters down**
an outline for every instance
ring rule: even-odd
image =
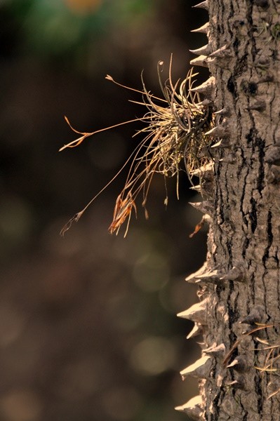
[[[6,347],[18,339],[25,319],[11,307],[0,307],[0,345]]]

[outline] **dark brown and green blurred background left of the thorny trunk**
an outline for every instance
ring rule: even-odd
[[[187,176],[155,178],[149,220],[126,239],[107,228],[126,171],[72,229],[60,229],[119,170],[141,123],[58,152],[79,131],[142,115],[140,100],[105,80],[159,95],[156,64],[184,78],[190,30],[206,11],[190,0],[1,0],[0,420],[180,421],[197,394],[179,371],[200,353],[176,313],[196,302],[184,278],[206,254]],[[204,70],[201,78],[206,76]]]

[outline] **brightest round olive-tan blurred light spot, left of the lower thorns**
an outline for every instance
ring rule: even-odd
[[[175,363],[173,344],[165,338],[151,337],[133,348],[131,366],[145,375],[159,375]]]

